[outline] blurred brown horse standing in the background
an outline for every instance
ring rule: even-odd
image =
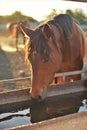
[[[22,23],[24,26],[29,27],[28,20],[15,21],[7,24],[7,28],[9,29],[10,36],[12,38],[16,38],[16,49],[18,50],[18,37],[21,35],[23,37],[23,44],[25,44],[24,33],[20,30],[19,24]]]

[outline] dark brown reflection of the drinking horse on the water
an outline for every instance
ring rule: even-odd
[[[54,101],[54,102],[40,102],[34,103],[30,107],[30,117],[31,122],[39,122],[71,113],[78,112],[79,105],[76,104],[64,104],[64,102]]]

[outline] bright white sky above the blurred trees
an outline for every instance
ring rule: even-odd
[[[11,15],[15,11],[21,11],[24,15],[41,21],[52,9],[63,13],[66,9],[81,9],[87,14],[87,3],[61,0],[0,0],[0,15]]]

